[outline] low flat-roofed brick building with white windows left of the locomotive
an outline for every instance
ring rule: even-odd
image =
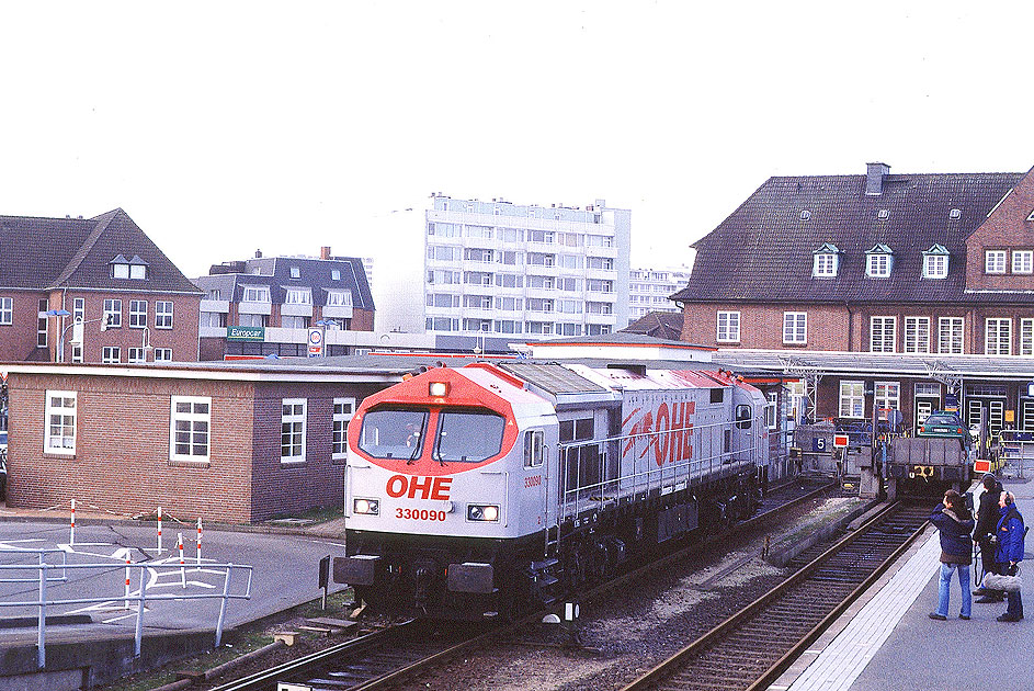
[[[7,366],[8,503],[251,523],[342,502],[344,430],[412,362]]]

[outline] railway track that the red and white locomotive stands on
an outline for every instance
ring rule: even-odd
[[[773,489],[762,512],[749,521],[736,525],[734,531],[742,532],[757,528],[765,521],[777,518],[782,512],[829,491],[833,484],[791,483]],[[777,497],[776,492],[782,492]],[[732,531],[730,531],[732,532]],[[727,539],[729,533],[712,536],[707,543]],[[636,568],[616,579],[610,580],[582,594],[588,602],[602,593],[620,588],[655,569],[663,569],[667,564],[685,559],[685,553],[698,548],[700,543],[677,551],[666,557]],[[399,626],[349,641],[297,660],[272,667],[237,681],[214,688],[212,691],[276,691],[281,682],[297,684],[299,688],[315,690],[368,691],[387,688],[402,679],[430,669],[435,664],[450,659],[461,650],[480,645],[492,637],[505,637],[509,630],[514,630],[530,621],[537,621],[542,613],[536,613],[521,622],[496,624],[489,628],[484,625],[477,631],[469,626],[434,628],[429,622],[410,621]]]

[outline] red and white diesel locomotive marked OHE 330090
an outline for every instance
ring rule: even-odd
[[[348,430],[337,582],[374,608],[507,618],[751,516],[765,398],[723,371],[513,360],[434,367]]]

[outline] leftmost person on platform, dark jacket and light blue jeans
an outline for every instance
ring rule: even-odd
[[[970,535],[975,521],[969,509],[963,502],[962,495],[954,489],[944,492],[944,502],[939,503],[930,514],[941,537],[941,579],[938,585],[938,609],[930,612],[930,619],[947,619],[948,593],[952,575],[958,570],[958,585],[962,588],[963,607],[958,619],[968,620],[973,607],[969,592],[969,564],[973,562]]]

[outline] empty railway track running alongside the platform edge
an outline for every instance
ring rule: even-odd
[[[625,691],[765,689],[911,544],[929,513],[928,506],[885,507]]]

